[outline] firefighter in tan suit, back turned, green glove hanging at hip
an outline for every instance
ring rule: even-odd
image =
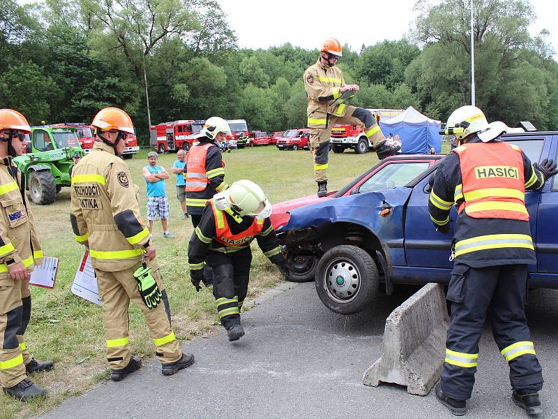
[[[70,221],[75,240],[89,247],[89,256],[103,298],[103,323],[110,378],[120,381],[142,365],[130,355],[128,306],[142,310],[164,375],[192,365],[183,354],[170,322],[167,294],[155,261],[156,249],[140,216],[135,185],[119,157],[132,120],[118,108],[100,110],[91,125],[96,142],[72,173]]]

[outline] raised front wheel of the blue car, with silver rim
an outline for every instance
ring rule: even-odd
[[[363,249],[342,245],[329,249],[322,256],[315,281],[319,299],[328,309],[339,314],[354,314],[374,300],[378,292],[378,269]]]

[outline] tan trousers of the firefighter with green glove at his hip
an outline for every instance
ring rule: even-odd
[[[159,267],[155,262],[147,265],[153,270],[163,299],[154,309],[148,309],[144,304],[137,281],[133,274],[142,266],[141,262],[126,270],[105,272],[95,270],[99,286],[99,295],[103,298],[103,324],[107,343],[107,360],[112,369],[121,369],[130,362],[130,348],[128,345],[128,306],[130,300],[140,307],[145,316],[149,335],[156,346],[156,355],[160,362],[176,362],[182,357],[179,342],[174,336],[170,325],[170,309],[167,294],[163,288]]]

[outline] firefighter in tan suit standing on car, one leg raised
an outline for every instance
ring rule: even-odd
[[[310,149],[314,158],[314,179],[318,184],[319,197],[327,195],[327,168],[329,140],[333,124],[363,124],[364,133],[372,143],[379,159],[391,156],[400,147],[386,144],[372,112],[345,104],[341,98],[345,92],[359,91],[356,84],[345,84],[343,73],[335,63],[341,57],[341,44],[335,38],[322,43],[320,57],[316,64],[304,72],[304,87],[308,105],[308,128],[310,128]]]

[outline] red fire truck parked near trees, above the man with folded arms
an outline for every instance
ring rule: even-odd
[[[203,119],[186,119],[174,122],[161,122],[149,127],[149,145],[161,154],[176,152],[183,149],[186,152],[197,142],[194,135],[202,131]]]

